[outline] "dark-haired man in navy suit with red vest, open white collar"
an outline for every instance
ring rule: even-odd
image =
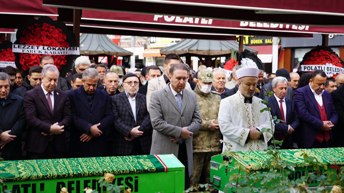
[[[322,70],[312,72],[309,84],[295,90],[300,126],[297,131],[298,147],[333,147],[332,130],[338,122],[331,95],[324,90],[326,74]]]

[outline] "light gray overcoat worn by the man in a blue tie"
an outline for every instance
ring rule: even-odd
[[[182,112],[172,91],[167,84],[165,88],[154,91],[150,98],[150,119],[153,126],[152,147],[150,154],[174,154],[178,157],[179,142],[169,139],[172,136],[179,139],[182,127],[187,127],[196,133],[202,124],[196,94],[184,89],[182,95]],[[189,175],[192,174],[192,137],[186,139],[186,152]]]

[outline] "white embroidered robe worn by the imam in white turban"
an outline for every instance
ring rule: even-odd
[[[268,111],[260,113],[261,109],[266,107],[261,103],[261,99],[253,96],[252,104],[244,103],[244,96],[238,92],[221,100],[218,112],[218,123],[223,140],[230,143],[233,147],[230,151],[252,151],[267,149],[267,143],[272,137],[271,122]],[[270,131],[263,132],[264,140],[251,140],[248,143],[250,128],[269,128]],[[275,124],[272,122],[272,132],[275,130]],[[228,147],[223,146],[223,151]]]

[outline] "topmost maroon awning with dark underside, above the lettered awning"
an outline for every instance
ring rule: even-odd
[[[344,25],[342,0],[43,0],[48,7],[301,25]]]

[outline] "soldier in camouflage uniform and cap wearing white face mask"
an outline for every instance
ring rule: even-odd
[[[197,86],[194,90],[202,117],[202,126],[193,136],[193,174],[191,185],[197,186],[202,171],[205,174],[205,183],[210,181],[210,159],[220,154],[221,132],[219,130],[217,114],[220,107],[221,94],[211,91],[214,82],[213,72],[203,69],[198,73]]]

